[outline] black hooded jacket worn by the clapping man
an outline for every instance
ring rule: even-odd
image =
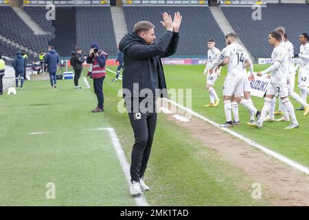
[[[155,89],[163,89],[159,96],[167,98],[161,58],[175,54],[178,42],[179,34],[171,31],[165,31],[152,45],[147,45],[138,34],[126,34],[119,43],[119,50],[124,54],[123,89],[128,89],[132,97],[137,97],[141,89],[151,89],[153,94]],[[139,85],[135,94],[133,83]]]

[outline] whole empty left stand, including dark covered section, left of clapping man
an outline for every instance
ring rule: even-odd
[[[32,17],[48,35],[35,35],[26,23],[10,6],[0,7],[0,32],[6,38],[28,47],[34,52],[46,51],[48,45],[54,45],[60,56],[70,56],[76,46],[88,52],[89,45],[96,41],[110,56],[117,55],[111,8],[106,6],[70,6],[56,7],[56,20],[45,19],[45,6],[25,6],[25,12]],[[97,22],[89,14],[102,17]],[[3,47],[5,45],[5,47]],[[3,53],[10,56],[7,48],[11,45],[2,41]],[[14,47],[14,46],[13,46]],[[16,48],[18,50],[18,48]],[[15,50],[15,49],[14,49]],[[13,54],[15,54],[14,51]]]

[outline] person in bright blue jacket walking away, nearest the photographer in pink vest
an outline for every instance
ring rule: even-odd
[[[50,84],[52,88],[57,87],[56,72],[57,64],[60,62],[59,54],[53,46],[48,47],[48,53],[44,57],[44,63],[47,64],[47,72],[49,72]]]

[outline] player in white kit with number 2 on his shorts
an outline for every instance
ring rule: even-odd
[[[271,102],[273,98],[279,95],[279,98],[282,99],[282,103],[288,110],[292,124],[286,127],[286,129],[295,129],[299,126],[293,104],[288,99],[288,81],[290,81],[288,74],[288,55],[286,49],[282,44],[282,35],[280,32],[273,30],[268,35],[268,41],[275,48],[271,54],[273,65],[268,69],[265,69],[262,72],[258,72],[258,76],[268,74],[271,72],[271,83],[268,84],[266,91],[266,98],[264,99],[264,107],[262,109],[261,117],[258,122],[248,123],[249,126],[255,128],[262,128],[263,122],[266,118],[267,112],[271,109]]]

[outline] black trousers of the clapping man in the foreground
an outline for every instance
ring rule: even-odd
[[[128,113],[134,131],[135,144],[131,154],[131,181],[144,177],[157,125],[157,113]]]

